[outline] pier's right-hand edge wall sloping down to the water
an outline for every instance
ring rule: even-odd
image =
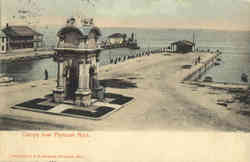
[[[186,75],[183,81],[197,80],[202,77],[209,69],[216,65],[216,59],[221,53],[209,53],[210,57],[190,69],[188,75]]]

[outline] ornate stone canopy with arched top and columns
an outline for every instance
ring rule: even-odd
[[[98,80],[100,52],[97,40],[101,31],[93,24],[77,27],[70,19],[57,33],[54,61],[58,64],[54,101],[87,107],[92,98],[103,99]]]

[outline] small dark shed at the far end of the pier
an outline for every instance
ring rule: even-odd
[[[187,40],[181,40],[171,43],[170,49],[175,53],[188,53],[193,52],[195,44]]]

